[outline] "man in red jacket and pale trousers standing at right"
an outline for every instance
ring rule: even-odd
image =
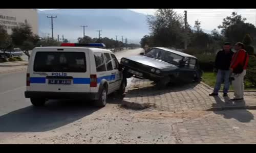
[[[232,86],[234,89],[234,98],[230,99],[232,101],[243,100],[244,98],[244,77],[246,74],[246,69],[247,69],[248,60],[249,60],[249,56],[244,50],[243,43],[241,42],[236,43],[236,45],[234,45],[234,49],[236,49],[237,52],[233,55],[231,64],[230,64],[230,70],[234,78],[234,80],[232,81]],[[241,67],[242,69],[241,73],[236,72],[236,69],[238,67]]]

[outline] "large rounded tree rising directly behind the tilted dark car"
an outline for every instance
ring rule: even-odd
[[[147,23],[155,45],[163,47],[184,46],[184,22],[173,9],[157,9],[155,16],[148,16]]]

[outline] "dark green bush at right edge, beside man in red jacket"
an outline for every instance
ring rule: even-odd
[[[248,68],[246,70],[245,80],[256,87],[256,57],[250,56]]]

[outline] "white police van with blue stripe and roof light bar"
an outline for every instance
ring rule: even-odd
[[[34,106],[44,106],[47,99],[90,98],[104,107],[108,94],[124,93],[126,79],[116,56],[103,47],[101,43],[62,43],[34,48],[25,97]]]

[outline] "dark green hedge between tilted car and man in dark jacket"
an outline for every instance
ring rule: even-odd
[[[199,67],[203,71],[213,71],[214,70],[214,64],[215,64],[215,56],[214,54],[212,55],[195,55],[198,59]]]

